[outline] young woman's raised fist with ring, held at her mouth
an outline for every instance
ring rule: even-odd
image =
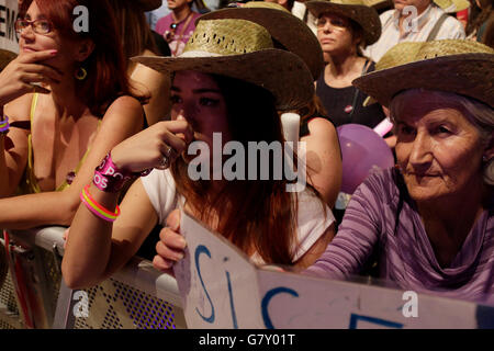
[[[167,168],[186,151],[193,131],[186,120],[158,122],[112,149],[112,160],[131,172]],[[168,165],[165,165],[165,157]]]

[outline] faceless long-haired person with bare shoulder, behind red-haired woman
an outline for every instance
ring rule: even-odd
[[[161,0],[110,0],[109,4],[115,13],[125,57],[130,60],[141,55],[160,56],[144,11],[160,7]],[[148,125],[169,118],[169,99],[162,99],[170,90],[168,77],[131,60],[127,75],[134,88],[149,97],[148,103],[144,105]]]

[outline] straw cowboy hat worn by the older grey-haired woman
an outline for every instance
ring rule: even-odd
[[[460,39],[401,43],[373,72],[352,84],[384,106],[401,91],[423,88],[467,95],[494,107],[494,49]]]

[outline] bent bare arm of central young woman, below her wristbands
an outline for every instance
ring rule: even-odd
[[[109,211],[116,205],[116,193],[103,193],[96,186],[91,196]],[[92,214],[81,204],[67,239],[61,271],[68,286],[88,287],[120,270],[143,244],[157,222],[139,180],[135,181],[121,203],[121,216],[113,223]]]

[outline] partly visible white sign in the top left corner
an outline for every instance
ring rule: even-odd
[[[18,0],[0,0],[0,49],[19,54],[19,35],[15,33]]]

